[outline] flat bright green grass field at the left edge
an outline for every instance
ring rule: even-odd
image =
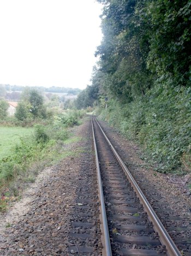
[[[11,148],[20,143],[21,136],[31,135],[33,128],[0,127],[0,160],[11,154]]]

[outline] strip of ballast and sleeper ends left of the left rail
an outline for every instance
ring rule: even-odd
[[[92,127],[87,128],[87,136],[92,136]],[[99,218],[99,198],[97,175],[91,140],[86,140],[86,157],[79,162],[79,182],[76,184],[76,199],[70,217],[68,254],[102,255]]]

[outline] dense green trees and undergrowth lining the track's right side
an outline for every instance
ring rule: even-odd
[[[160,171],[190,169],[191,2],[97,1],[104,34],[98,69],[77,100],[93,105],[97,95],[104,105],[108,96],[102,116],[139,141]]]

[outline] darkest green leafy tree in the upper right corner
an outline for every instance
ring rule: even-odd
[[[142,19],[150,22],[148,69],[159,77],[173,78],[175,86],[190,86],[190,5],[188,0],[157,0],[146,1],[140,9]]]

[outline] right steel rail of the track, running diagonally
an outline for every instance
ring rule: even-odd
[[[94,117],[94,120],[96,120],[95,117]],[[109,145],[111,146],[111,149],[114,152],[114,155],[116,156],[117,160],[120,162],[120,165],[123,168],[124,172],[126,173],[127,178],[129,179],[130,183],[132,184],[132,186],[133,186],[133,188],[136,192],[136,195],[139,197],[139,200],[142,203],[142,206],[144,207],[145,212],[148,215],[148,219],[150,219],[150,221],[152,221],[154,231],[158,232],[159,240],[166,247],[167,254],[169,256],[181,256],[182,255],[181,252],[176,247],[176,244],[174,243],[174,241],[172,241],[172,238],[170,237],[170,235],[166,231],[165,227],[163,226],[163,224],[159,220],[157,214],[154,212],[151,204],[147,201],[145,195],[143,194],[140,187],[138,186],[138,184],[134,180],[132,174],[130,174],[128,168],[123,163],[121,157],[118,155],[117,151],[115,150],[114,146],[111,144],[110,140],[108,139],[108,137],[104,133],[102,127],[100,127],[97,120],[96,120],[96,122],[97,122],[100,130],[102,131],[106,141],[108,141]]]

